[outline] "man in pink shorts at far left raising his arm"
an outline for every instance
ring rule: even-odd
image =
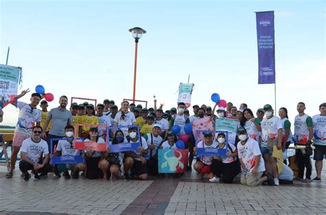
[[[26,95],[30,92],[29,89],[21,91],[21,94],[17,96],[17,99]],[[32,136],[32,129],[41,124],[41,111],[36,109],[36,106],[41,100],[41,95],[39,93],[32,93],[30,98],[30,104],[25,102],[17,102],[15,100],[11,104],[19,108],[19,117],[16,128],[14,129],[14,138],[12,140],[12,152],[10,157],[10,170],[6,174],[6,179],[12,178],[12,173],[14,171],[14,166],[17,160],[17,154],[21,148],[21,144],[25,139]]]

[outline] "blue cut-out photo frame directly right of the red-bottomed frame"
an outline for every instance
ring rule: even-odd
[[[107,128],[107,135],[109,135],[109,130],[113,129],[114,131],[121,131],[124,130],[123,128],[137,128],[137,137],[138,142],[130,142],[126,137],[124,137],[124,142],[120,144],[112,144],[112,142],[109,143],[110,152],[127,152],[127,151],[135,151],[137,150],[138,146],[141,146],[140,142],[140,129],[139,126],[130,125],[130,126],[111,126]]]

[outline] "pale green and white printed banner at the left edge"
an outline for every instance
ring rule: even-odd
[[[21,82],[21,67],[0,64],[0,107],[16,100],[18,85]]]

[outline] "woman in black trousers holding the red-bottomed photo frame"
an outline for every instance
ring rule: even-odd
[[[98,144],[105,144],[105,140],[98,137],[98,127],[91,127],[89,129],[89,138],[84,142],[95,142]],[[98,150],[85,150],[86,158],[86,177],[88,179],[98,179],[101,176],[98,163],[102,157],[102,152]]]

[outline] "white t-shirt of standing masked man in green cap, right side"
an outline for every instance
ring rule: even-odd
[[[267,145],[268,137],[270,139],[277,139],[279,129],[283,129],[281,119],[273,115],[272,118],[268,119],[267,117],[263,118],[261,121],[261,139],[263,142],[261,146]]]

